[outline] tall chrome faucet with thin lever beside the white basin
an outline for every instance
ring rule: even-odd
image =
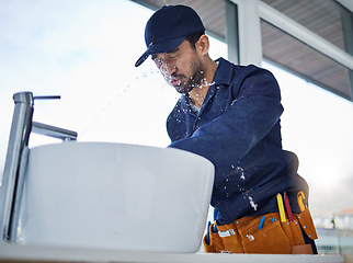
[[[32,121],[34,100],[50,99],[60,96],[33,96],[32,92],[13,95],[15,106],[0,190],[0,242],[13,241],[15,237],[31,132],[64,141],[77,139],[75,132]]]

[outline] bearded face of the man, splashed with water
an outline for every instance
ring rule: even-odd
[[[202,57],[187,41],[168,53],[152,55],[152,59],[179,93],[190,92],[204,79]]]

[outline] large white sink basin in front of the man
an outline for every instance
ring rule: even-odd
[[[213,164],[171,148],[65,142],[30,150],[18,241],[196,252]]]

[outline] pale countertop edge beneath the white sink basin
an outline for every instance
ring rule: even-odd
[[[0,262],[134,262],[134,263],[343,263],[341,255],[206,254],[117,251],[92,248],[59,248],[0,243]]]

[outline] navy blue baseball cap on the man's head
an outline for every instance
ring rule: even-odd
[[[141,65],[149,55],[166,53],[178,47],[187,35],[204,32],[198,14],[186,5],[166,5],[156,11],[145,28],[147,50],[136,61]]]

